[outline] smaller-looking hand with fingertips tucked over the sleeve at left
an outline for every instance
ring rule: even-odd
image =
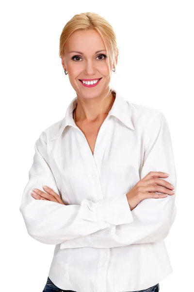
[[[33,189],[32,197],[36,200],[42,199],[42,200],[53,201],[53,202],[65,205],[64,202],[59,197],[59,195],[55,193],[51,188],[49,187],[46,188],[44,185],[43,185],[43,188],[45,189],[47,193],[44,193],[40,191],[39,189]]]

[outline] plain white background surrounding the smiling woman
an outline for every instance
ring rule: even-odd
[[[27,233],[19,212],[34,143],[65,116],[76,96],[59,57],[59,38],[75,14],[106,18],[119,49],[111,84],[125,99],[161,110],[177,169],[177,217],[165,239],[173,273],[160,292],[193,287],[194,1],[1,1],[1,290],[41,292],[54,245]],[[110,84],[110,85],[111,85]],[[89,291],[88,291],[89,292]]]

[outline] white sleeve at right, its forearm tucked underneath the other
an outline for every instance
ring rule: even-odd
[[[89,236],[67,240],[60,248],[111,248],[129,244],[157,242],[167,237],[175,220],[177,175],[167,121],[159,113],[146,125],[144,131],[144,163],[140,179],[150,171],[169,174],[164,180],[175,186],[174,195],[141,201],[132,211],[133,221],[97,231]]]

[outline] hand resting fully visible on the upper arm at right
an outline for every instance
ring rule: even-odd
[[[174,195],[171,190],[174,189],[170,183],[159,179],[168,177],[167,174],[161,171],[150,171],[142,180],[135,184],[135,186],[126,194],[130,210],[132,211],[140,201],[150,198],[166,198],[163,194]]]

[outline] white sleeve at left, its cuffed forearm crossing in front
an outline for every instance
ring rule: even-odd
[[[43,185],[48,185],[59,195],[59,189],[48,163],[45,131],[35,142],[34,148],[35,154],[29,170],[29,181],[23,191],[19,207],[31,237],[43,243],[59,244],[109,226],[133,221],[126,194],[96,203],[82,200],[80,205],[63,205],[33,198],[34,188],[45,192]]]

